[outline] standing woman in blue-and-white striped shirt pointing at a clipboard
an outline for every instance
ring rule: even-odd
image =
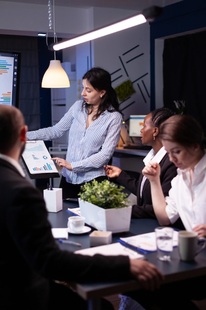
[[[104,165],[120,139],[123,113],[109,72],[92,68],[82,78],[83,100],[76,101],[52,127],[27,133],[27,140],[53,140],[69,131],[66,160],[53,157],[62,166],[63,199],[76,198],[82,184],[107,179]]]

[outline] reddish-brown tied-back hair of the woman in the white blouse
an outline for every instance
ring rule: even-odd
[[[160,126],[160,138],[176,142],[186,148],[197,143],[202,150],[206,147],[206,139],[198,121],[185,114],[176,114],[165,120]]]

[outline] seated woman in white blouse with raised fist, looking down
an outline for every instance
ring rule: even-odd
[[[181,218],[186,230],[206,237],[206,142],[199,123],[189,115],[174,115],[160,126],[160,138],[177,176],[168,196],[160,184],[160,166],[150,161],[142,173],[150,180],[155,214],[160,225]]]

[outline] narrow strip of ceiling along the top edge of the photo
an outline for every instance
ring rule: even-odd
[[[47,0],[9,0],[10,2],[22,2],[29,4],[47,4]],[[91,6],[96,7],[108,7],[108,8],[120,8],[126,10],[142,11],[144,8],[152,5],[166,6],[181,0],[54,0],[54,4],[57,6],[66,7],[78,7],[89,8]],[[51,4],[53,1],[51,0]]]

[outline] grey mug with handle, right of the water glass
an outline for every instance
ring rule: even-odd
[[[206,240],[200,246],[198,233],[181,230],[178,233],[178,249],[181,260],[194,260],[196,255],[206,247]]]

